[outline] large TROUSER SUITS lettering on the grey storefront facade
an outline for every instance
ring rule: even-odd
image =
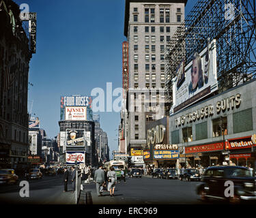
[[[241,95],[238,93],[228,97],[227,99],[222,99],[218,101],[216,104],[216,112],[217,114],[221,112],[221,110],[229,110],[236,106],[240,106],[241,104]],[[214,114],[214,106],[209,105],[205,106],[201,109],[196,110],[195,112],[188,113],[186,115],[179,116],[175,119],[175,126],[178,127],[180,125],[184,125],[185,123],[192,123],[193,121],[203,119],[204,117],[207,118],[208,116],[212,116]]]

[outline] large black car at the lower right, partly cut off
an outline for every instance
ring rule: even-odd
[[[241,166],[210,167],[205,170],[202,183],[197,186],[197,194],[201,200],[217,198],[231,203],[256,200],[256,177],[252,170]]]

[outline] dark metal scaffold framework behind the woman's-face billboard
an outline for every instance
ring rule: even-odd
[[[216,39],[218,92],[256,77],[255,0],[199,0],[165,49],[167,113],[172,104],[171,80],[182,59]]]

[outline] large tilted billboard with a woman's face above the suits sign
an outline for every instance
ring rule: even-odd
[[[200,53],[195,52],[193,61],[184,67],[184,61],[177,67],[173,79],[173,107],[175,113],[193,104],[206,95],[218,90],[216,65],[216,40]]]

